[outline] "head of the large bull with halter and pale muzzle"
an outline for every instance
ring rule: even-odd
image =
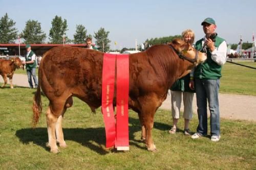
[[[197,51],[193,46],[181,39],[174,39],[170,45],[173,46],[180,58],[190,61],[195,66],[204,62],[207,58],[205,53]]]

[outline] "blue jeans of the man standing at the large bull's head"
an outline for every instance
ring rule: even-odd
[[[195,79],[197,94],[197,113],[199,124],[197,132],[207,134],[207,100],[210,109],[210,134],[220,135],[219,88],[220,79]]]

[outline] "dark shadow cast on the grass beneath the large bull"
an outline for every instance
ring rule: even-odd
[[[141,140],[135,139],[135,133],[141,130],[139,125],[139,119],[129,118],[129,139],[130,145],[134,145],[140,149],[146,149],[141,147]],[[154,128],[159,130],[166,130],[169,128],[168,125],[162,123],[154,123]],[[84,147],[90,148],[92,151],[98,154],[105,155],[110,153],[105,149],[105,128],[63,128],[63,134],[65,140],[72,140],[80,143]],[[47,128],[25,128],[16,131],[15,134],[21,142],[28,144],[33,142],[45,150],[50,149],[46,147],[48,142]],[[96,143],[96,144],[94,144]],[[116,152],[116,151],[114,151]]]

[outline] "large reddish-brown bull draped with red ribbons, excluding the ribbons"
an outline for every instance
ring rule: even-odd
[[[178,54],[187,59],[181,59]],[[168,89],[205,59],[205,54],[180,39],[129,56],[129,108],[139,115],[142,139],[148,150],[156,150],[152,139],[154,115],[166,99]],[[41,113],[41,88],[50,101],[46,117],[51,152],[58,152],[56,142],[60,147],[67,146],[61,120],[73,104],[72,96],[86,102],[93,112],[101,106],[102,61],[101,52],[68,46],[52,48],[42,58],[33,104],[33,125],[36,126]],[[115,105],[115,99],[113,103]]]

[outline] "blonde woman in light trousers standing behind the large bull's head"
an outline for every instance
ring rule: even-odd
[[[193,44],[195,40],[195,34],[192,30],[188,29],[182,32],[181,38],[183,41]],[[172,117],[173,117],[173,127],[169,130],[170,134],[175,134],[177,131],[177,124],[180,118],[180,107],[181,99],[183,96],[184,104],[184,135],[190,135],[189,120],[193,116],[193,97],[194,97],[194,88],[191,88],[191,81],[193,81],[193,73],[187,74],[186,76],[177,80],[174,85],[171,87],[170,95],[172,99]]]

